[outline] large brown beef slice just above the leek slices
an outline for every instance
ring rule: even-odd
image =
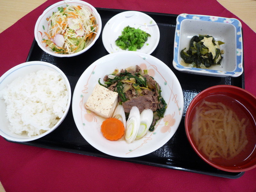
[[[124,112],[130,113],[130,110],[133,106],[136,106],[140,113],[144,109],[151,109],[152,111],[156,111],[158,109],[158,99],[154,95],[143,95],[139,97],[131,98],[128,101],[125,101],[122,105],[124,107]]]

